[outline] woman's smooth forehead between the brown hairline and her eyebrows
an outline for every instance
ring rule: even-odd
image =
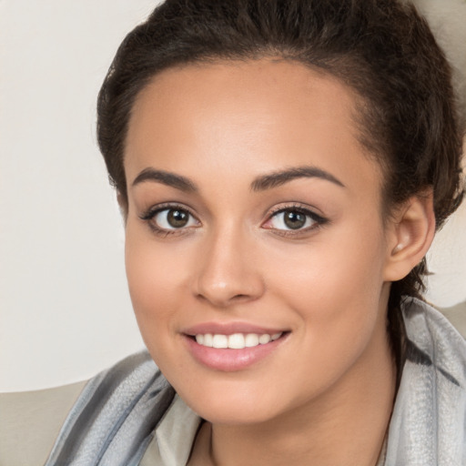
[[[234,167],[243,167],[253,177],[303,165],[339,178],[379,180],[379,166],[359,142],[357,104],[358,97],[339,80],[296,62],[167,69],[133,107],[127,181],[154,166],[187,177],[231,177]]]

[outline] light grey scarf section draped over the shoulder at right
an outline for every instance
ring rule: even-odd
[[[464,464],[466,343],[417,299],[403,309],[407,360],[390,420],[386,464]]]

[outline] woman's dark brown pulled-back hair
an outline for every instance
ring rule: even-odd
[[[396,0],[167,0],[159,5],[127,35],[98,96],[98,143],[123,202],[128,120],[148,81],[171,66],[267,56],[336,76],[355,90],[361,102],[360,141],[384,173],[385,213],[431,188],[441,227],[462,196],[462,134],[451,68],[414,6]],[[425,272],[424,259],[392,284],[392,329],[400,327],[401,297],[420,294]]]

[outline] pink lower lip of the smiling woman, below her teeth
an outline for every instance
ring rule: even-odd
[[[199,345],[195,339],[187,336],[185,336],[185,340],[187,348],[195,360],[198,360],[209,369],[233,372],[247,369],[258,361],[267,358],[286,339],[286,336],[287,334],[282,335],[279,339],[269,341],[265,345],[243,349],[209,348]]]

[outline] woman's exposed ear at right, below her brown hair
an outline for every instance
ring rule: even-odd
[[[434,234],[435,216],[430,189],[408,199],[390,219],[385,281],[404,279],[426,255]]]

